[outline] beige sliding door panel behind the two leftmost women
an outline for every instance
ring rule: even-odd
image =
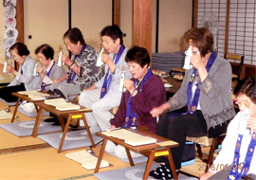
[[[67,28],[68,1],[24,1],[24,42],[32,58],[36,58],[34,50],[37,46],[48,44],[54,48],[54,58],[57,60],[59,45],[64,45],[63,35]],[[29,35],[31,39],[28,39]]]

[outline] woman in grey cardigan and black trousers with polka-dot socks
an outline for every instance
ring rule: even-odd
[[[180,89],[162,105],[153,108],[153,117],[160,116],[157,135],[179,143],[172,148],[176,171],[181,168],[186,136],[216,136],[227,130],[229,119],[235,116],[231,98],[231,66],[212,50],[210,30],[200,27],[188,30],[184,36],[188,48],[192,40],[192,69],[186,70]],[[174,111],[178,110],[178,111]],[[158,158],[161,165],[150,175],[156,179],[170,179],[172,174],[166,158]]]

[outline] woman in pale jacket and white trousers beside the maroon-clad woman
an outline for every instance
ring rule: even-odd
[[[123,66],[128,69],[128,64],[124,61],[128,49],[123,45],[122,37],[122,31],[117,25],[107,26],[101,30],[104,48],[109,53],[101,55],[102,62],[105,63],[105,75],[101,81],[83,90],[79,102],[93,110],[92,113],[84,113],[91,133],[110,128],[109,119],[112,115],[109,110],[120,103],[120,75]],[[132,78],[131,73],[126,71],[125,78]]]

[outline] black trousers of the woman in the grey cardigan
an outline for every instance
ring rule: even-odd
[[[160,117],[157,124],[157,135],[174,140],[179,144],[178,147],[171,148],[176,170],[181,168],[186,136],[207,135],[207,123],[201,111],[197,110],[194,114],[180,115],[182,112],[187,112],[187,108],[165,113]],[[159,161],[165,162],[170,168],[167,158],[158,159],[157,162]]]

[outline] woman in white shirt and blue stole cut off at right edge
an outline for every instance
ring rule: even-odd
[[[255,76],[239,81],[233,94],[240,112],[230,121],[220,153],[200,180],[242,179],[244,175],[256,179]]]

